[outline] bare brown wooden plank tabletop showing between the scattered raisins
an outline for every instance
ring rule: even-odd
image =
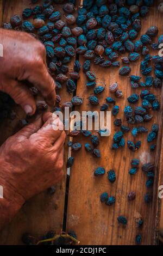
[[[25,7],[29,6],[28,0],[18,1],[4,1],[3,9],[1,3],[0,22],[9,21],[13,14],[21,14]],[[30,5],[32,6],[32,5]],[[57,9],[61,10],[61,6],[57,5]],[[3,10],[3,11],[2,11]],[[146,32],[147,28],[155,25],[159,27],[159,35],[163,34],[163,22],[161,14],[155,7],[150,9],[149,15],[142,20],[141,34]],[[155,40],[156,41],[156,40]],[[151,51],[151,54],[156,54]],[[84,59],[79,58],[83,63]],[[140,74],[140,61],[131,64],[131,74]],[[73,66],[73,62],[70,67]],[[102,69],[98,66],[92,65],[91,70],[96,72],[97,84],[105,84],[105,91],[99,96],[101,105],[105,102],[105,97],[109,96],[109,84],[118,82],[124,97],[117,99],[116,103],[120,106],[120,114],[123,124],[126,125],[126,120],[123,116],[123,109],[128,105],[127,97],[136,92],[140,94],[140,89],[131,89],[128,77],[120,77],[118,69]],[[99,109],[89,105],[88,97],[92,94],[92,90],[85,87],[86,77],[81,72],[81,78],[77,84],[77,95],[84,98],[84,103],[81,107],[76,108],[80,112],[91,109]],[[150,89],[159,100],[162,99],[161,89]],[[61,92],[62,102],[71,99],[71,95],[63,89]],[[111,96],[111,95],[110,95]],[[161,101],[162,102],[162,101]],[[137,106],[140,102],[137,103]],[[162,103],[161,103],[162,105]],[[110,109],[109,109],[110,110]],[[19,108],[17,110],[18,118],[24,117],[24,113]],[[82,142],[83,148],[79,153],[75,153],[74,166],[71,169],[70,186],[66,191],[66,164],[65,177],[60,184],[57,185],[57,191],[54,196],[49,196],[47,192],[29,200],[17,214],[14,220],[4,228],[1,232],[0,241],[2,245],[21,244],[21,235],[24,232],[40,237],[48,230],[55,230],[60,233],[62,224],[64,222],[64,231],[74,230],[78,235],[78,239],[82,245],[134,245],[135,236],[142,234],[143,245],[156,244],[158,239],[158,226],[160,217],[160,200],[158,199],[158,185],[161,184],[161,147],[162,147],[162,106],[161,110],[154,112],[152,122],[145,124],[150,130],[153,123],[160,124],[160,130],[157,141],[157,149],[155,153],[149,151],[149,144],[146,142],[147,135],[138,136],[136,139],[131,137],[128,133],[125,135],[126,141],[133,139],[138,141],[141,139],[142,146],[132,153],[127,147],[113,151],[110,149],[112,143],[112,136],[118,129],[113,125],[114,118],[112,118],[111,136],[102,138],[100,142],[100,149],[102,151],[101,159],[95,159],[92,155],[86,153],[84,143],[89,142],[89,139],[79,137],[74,141]],[[16,121],[15,121],[16,122]],[[15,123],[11,124],[8,120],[1,125],[1,131],[4,127],[8,127],[3,132],[1,143],[7,137],[12,135]],[[96,133],[96,132],[95,132]],[[68,139],[68,138],[67,138]],[[161,153],[161,154],[160,154]],[[68,148],[65,145],[65,163],[68,156]],[[142,173],[141,168],[135,176],[130,176],[128,171],[130,169],[130,161],[133,158],[139,158],[141,164],[146,162],[153,162],[156,165],[155,180],[153,187],[153,202],[145,204],[143,196],[145,193],[152,192],[145,186],[146,175]],[[162,159],[161,159],[162,160]],[[140,166],[141,166],[140,164]],[[116,182],[110,184],[106,174],[97,178],[93,176],[94,170],[98,166],[105,167],[106,170],[114,169],[117,175]],[[116,197],[116,204],[108,207],[101,204],[99,196],[102,192],[107,191],[110,195]],[[136,199],[133,202],[128,202],[127,194],[130,191],[136,192]],[[65,193],[68,193],[68,203],[66,204],[67,211],[64,215]],[[117,216],[125,215],[128,218],[128,225],[123,228],[117,223]],[[139,218],[145,221],[142,229],[136,226],[136,221]]]

